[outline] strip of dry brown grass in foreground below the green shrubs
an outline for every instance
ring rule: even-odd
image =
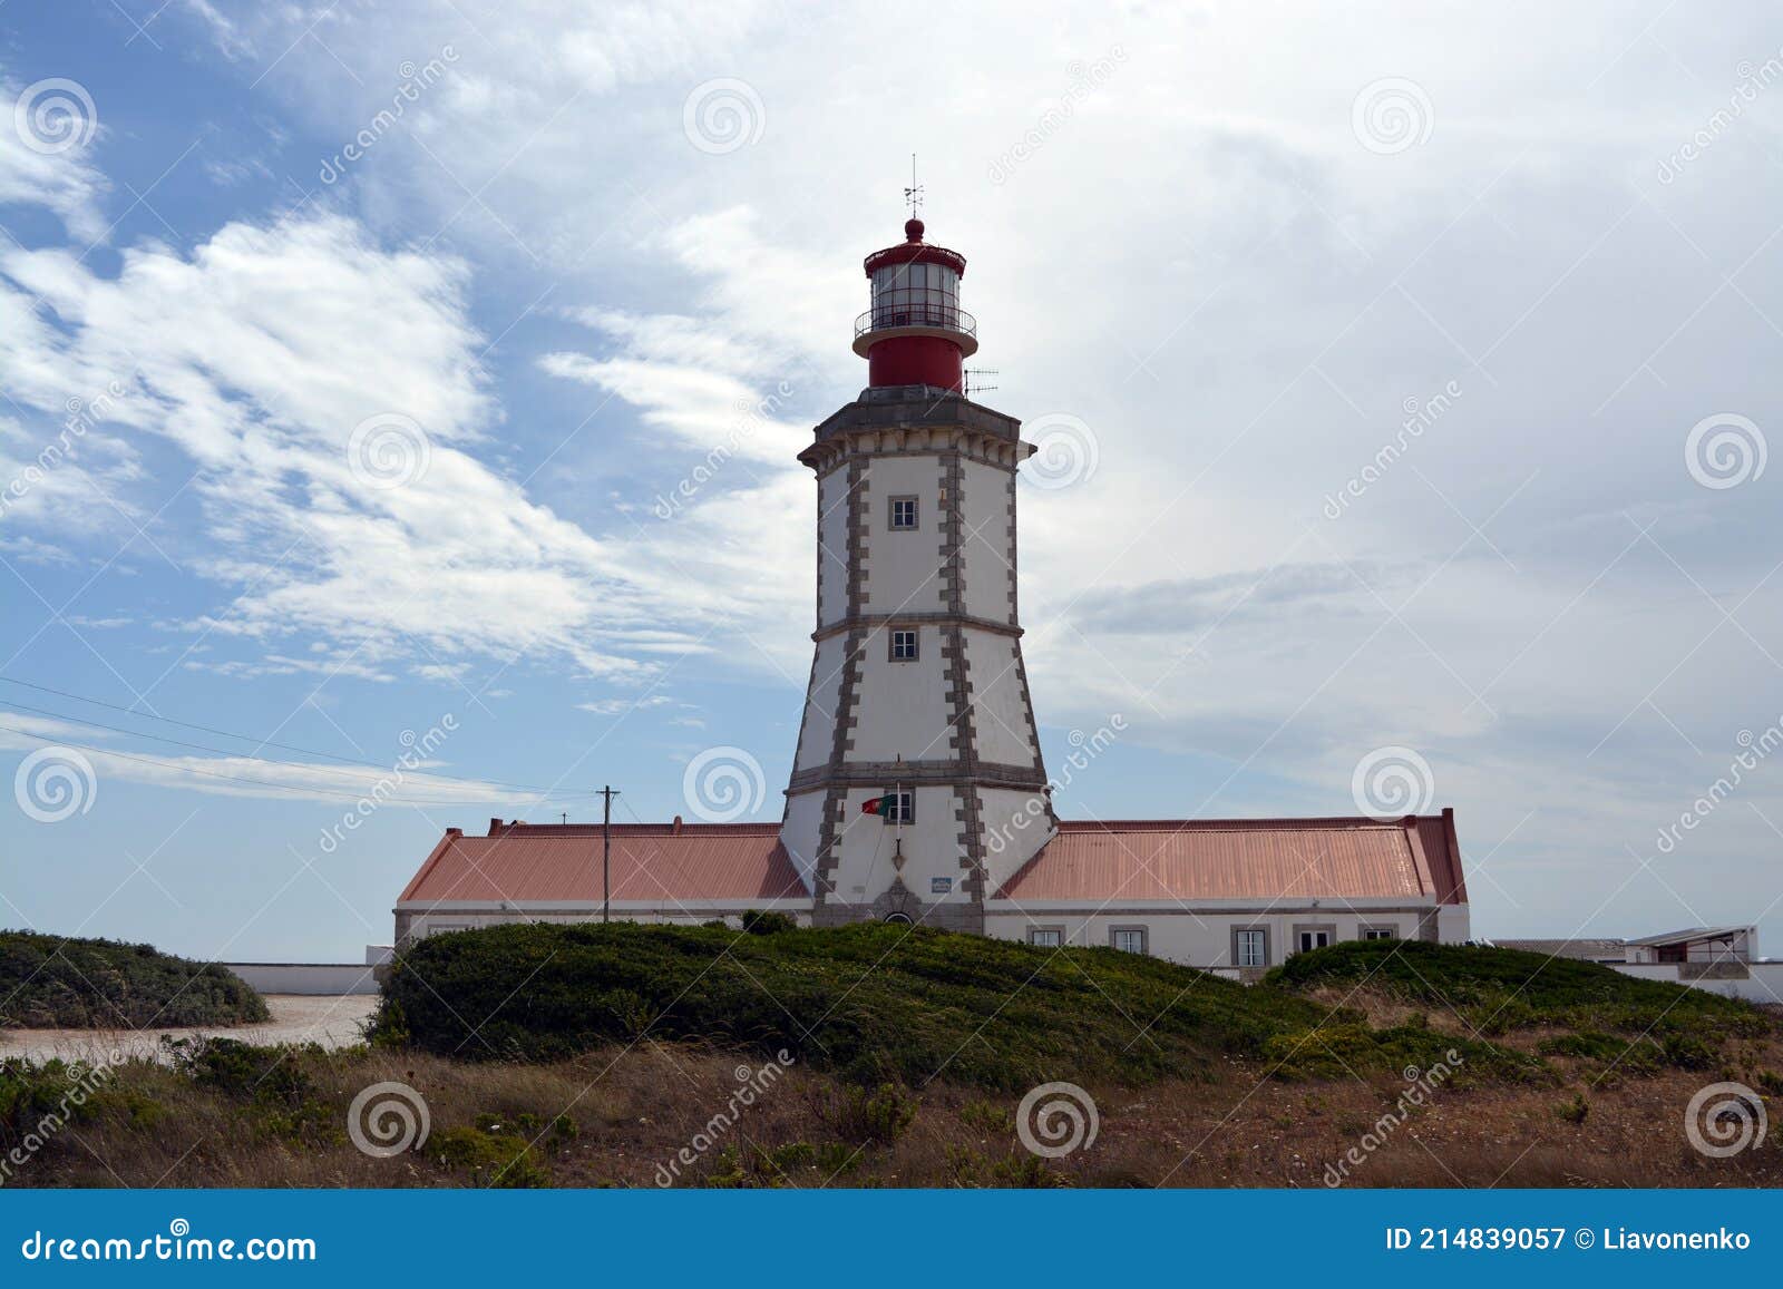
[[[1437,1018],[1432,1016],[1432,1023]],[[1528,1041],[1533,1041],[1530,1036]],[[510,1170],[553,1186],[637,1186],[690,1146],[738,1088],[738,1057],[644,1043],[553,1064],[464,1063],[449,1057],[357,1048],[310,1054],[307,1130],[291,1132],[241,1093],[203,1088],[164,1066],[128,1066],[87,1120],[55,1134],[16,1171],[16,1186],[478,1186],[494,1168],[444,1162],[442,1143],[481,1134],[517,1150],[540,1137],[528,1168]],[[1460,1086],[1385,1134],[1352,1170],[1350,1186],[1778,1186],[1783,1184],[1783,1107],[1772,1141],[1733,1159],[1705,1159],[1683,1134],[1683,1107],[1706,1082],[1753,1080],[1783,1070],[1783,1043],[1753,1041],[1724,1071],[1665,1070],[1649,1077],[1555,1061],[1564,1088]],[[1230,1061],[1216,1082],[1163,1080],[1143,1089],[1091,1088],[1100,1109],[1097,1143],[1038,1164],[1013,1130],[1016,1096],[933,1084],[892,1145],[849,1139],[836,1116],[843,1095],[826,1075],[792,1068],[710,1150],[681,1168],[678,1184],[713,1178],[785,1186],[1311,1186],[1343,1157],[1401,1091],[1391,1077],[1371,1084],[1275,1082],[1266,1068]],[[394,1080],[430,1107],[423,1152],[371,1159],[344,1136],[346,1105],[362,1088]],[[1567,1121],[1558,1107],[1583,1095],[1589,1112]],[[1776,1102],[1778,1098],[1772,1098]],[[574,1120],[572,1139],[547,1125]],[[480,1120],[481,1116],[481,1120]],[[729,1152],[724,1148],[729,1146]],[[772,1157],[776,1162],[768,1162]],[[738,1173],[742,1161],[742,1173]]]

